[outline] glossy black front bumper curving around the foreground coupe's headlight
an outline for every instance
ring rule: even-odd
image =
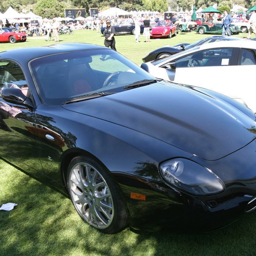
[[[225,190],[211,196],[193,196],[168,185],[127,174],[117,174],[133,229],[158,231],[213,231],[256,209],[256,140],[216,161],[193,157],[207,166],[225,184]],[[146,196],[134,200],[130,193]]]

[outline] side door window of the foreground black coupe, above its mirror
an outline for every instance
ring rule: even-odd
[[[0,61],[0,96],[4,88],[18,88],[27,95],[28,85],[18,64]]]

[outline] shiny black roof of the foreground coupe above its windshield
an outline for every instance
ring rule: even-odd
[[[2,59],[13,59],[18,62],[29,62],[35,58],[42,56],[57,54],[57,53],[68,53],[73,51],[81,50],[94,50],[94,49],[107,49],[104,46],[97,46],[93,44],[85,43],[60,43],[50,46],[40,47],[25,47],[18,49],[11,49],[0,52],[0,58]]]

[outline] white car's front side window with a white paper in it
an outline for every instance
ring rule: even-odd
[[[176,67],[228,66],[231,63],[232,51],[231,48],[217,48],[192,53],[176,60]]]

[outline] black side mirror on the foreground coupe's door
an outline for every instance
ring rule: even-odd
[[[2,90],[2,98],[10,103],[24,105],[33,108],[33,104],[18,88],[4,88]]]

